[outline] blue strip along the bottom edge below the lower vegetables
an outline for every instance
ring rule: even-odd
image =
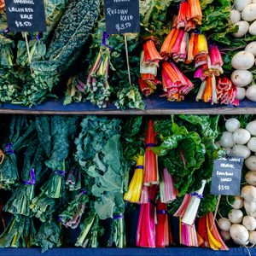
[[[256,249],[250,249],[252,255],[256,253]],[[0,256],[245,256],[249,255],[247,249],[230,248],[230,251],[213,251],[211,249],[201,248],[56,248],[50,249],[46,253],[41,253],[40,249],[0,249]]]

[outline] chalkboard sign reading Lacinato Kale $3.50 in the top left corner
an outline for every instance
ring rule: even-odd
[[[5,10],[10,31],[46,31],[44,0],[5,0]]]

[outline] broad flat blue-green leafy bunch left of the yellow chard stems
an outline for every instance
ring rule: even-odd
[[[113,228],[114,243],[124,247],[124,239],[120,236],[125,235],[123,188],[126,167],[120,143],[120,120],[87,117],[81,126],[82,131],[76,139],[76,159],[93,183],[94,211],[101,219],[113,218],[113,226],[117,227]]]

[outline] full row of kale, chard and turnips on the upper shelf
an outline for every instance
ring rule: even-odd
[[[153,94],[172,102],[188,94],[211,104],[255,101],[252,1],[140,1],[141,32],[126,35],[128,52],[123,35],[106,33],[103,5],[44,0],[47,31],[20,33],[9,31],[3,2],[0,102],[31,107],[54,98],[143,109]]]

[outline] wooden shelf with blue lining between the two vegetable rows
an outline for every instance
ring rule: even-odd
[[[3,103],[0,105],[0,113],[20,114],[112,114],[112,115],[166,115],[166,114],[256,114],[256,102],[241,101],[239,107],[231,105],[211,105],[203,102],[195,102],[195,99],[187,99],[184,102],[166,102],[159,96],[146,99],[145,110],[126,109],[119,110],[113,104],[108,108],[100,109],[90,102],[72,103],[63,106],[62,102],[44,102],[32,108]]]

